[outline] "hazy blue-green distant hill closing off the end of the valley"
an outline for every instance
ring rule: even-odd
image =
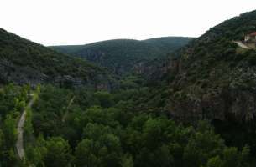
[[[53,46],[60,53],[67,53],[98,63],[111,72],[139,73],[140,67],[154,58],[164,58],[184,46],[192,38],[164,37],[147,40],[114,39],[86,45]]]

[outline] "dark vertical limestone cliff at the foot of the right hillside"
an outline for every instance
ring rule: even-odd
[[[172,118],[182,122],[200,119],[248,122],[256,117],[255,95],[239,89],[223,89],[220,93],[203,94],[201,97],[186,94],[184,99],[170,99],[167,109]]]

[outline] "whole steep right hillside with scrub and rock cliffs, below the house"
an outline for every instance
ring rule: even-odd
[[[171,55],[165,73],[168,95],[163,108],[170,117],[195,124],[208,119],[227,145],[248,144],[256,154],[256,52],[233,41],[256,31],[256,11],[211,28]]]

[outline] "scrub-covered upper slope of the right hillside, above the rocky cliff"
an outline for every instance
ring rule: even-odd
[[[183,90],[185,87],[191,89],[195,84],[201,89],[228,87],[232,82],[235,86],[248,84],[248,80],[241,78],[241,74],[249,76],[255,70],[255,50],[239,48],[233,41],[243,41],[246,34],[256,31],[255,16],[256,11],[253,11],[227,20],[211,28],[176,54],[180,56],[182,68],[186,72]],[[250,82],[249,89],[256,85],[253,78],[251,81],[253,83]]]

